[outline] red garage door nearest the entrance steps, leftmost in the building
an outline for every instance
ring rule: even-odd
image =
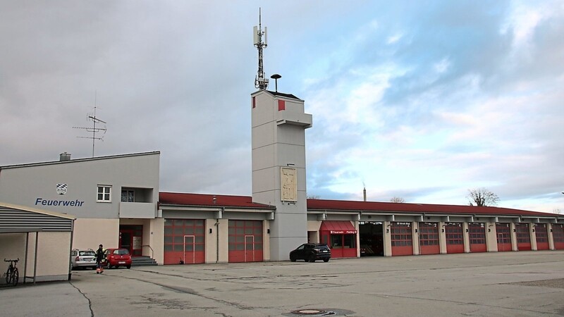
[[[164,264],[204,263],[204,220],[164,220]]]

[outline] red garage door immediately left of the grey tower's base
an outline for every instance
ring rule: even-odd
[[[262,220],[229,220],[229,262],[262,260]]]

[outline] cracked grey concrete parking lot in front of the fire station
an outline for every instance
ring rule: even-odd
[[[0,303],[0,316],[564,316],[564,251],[73,271],[0,287]]]

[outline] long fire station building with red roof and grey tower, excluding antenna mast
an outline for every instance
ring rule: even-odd
[[[251,196],[159,192],[152,151],[1,166],[0,201],[72,215],[72,248],[121,247],[159,264],[286,261],[308,241],[333,258],[564,249],[553,213],[307,199],[304,101],[262,89],[249,106]]]

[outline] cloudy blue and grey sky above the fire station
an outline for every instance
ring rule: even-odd
[[[564,212],[563,1],[0,0],[0,166],[92,156],[96,106],[95,156],[250,195],[259,6],[266,75],[313,116],[309,195]]]

